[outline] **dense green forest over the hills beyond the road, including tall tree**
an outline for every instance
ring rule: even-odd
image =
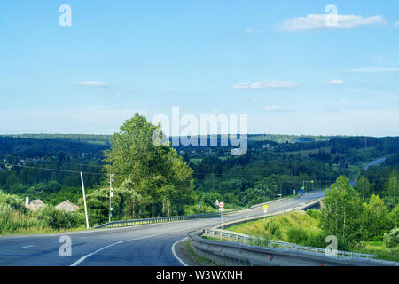
[[[390,178],[398,177],[396,137],[249,135],[247,153],[231,156],[230,146],[153,147],[154,126],[144,117],[126,123],[113,136],[1,136],[0,189],[51,206],[82,205],[82,171],[94,224],[108,219],[110,173],[114,219],[210,212],[216,199],[241,208],[298,193],[303,185],[325,189],[341,175],[359,179],[364,199],[378,193],[388,208],[396,204],[387,193]],[[380,157],[387,160],[364,170]]]

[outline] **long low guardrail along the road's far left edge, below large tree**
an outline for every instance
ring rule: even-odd
[[[285,201],[286,199],[290,199],[290,198],[293,198],[293,197],[280,198],[278,200],[264,202],[262,204],[253,205],[251,207],[224,211],[223,215],[237,212],[237,211],[247,210],[247,209],[254,209],[256,207],[262,206],[263,204],[272,204],[272,203],[276,203],[279,201]],[[173,217],[155,217],[155,218],[134,219],[134,220],[121,220],[121,221],[109,222],[109,223],[102,224],[102,225],[97,225],[97,226],[94,226],[93,229],[106,228],[106,227],[122,227],[122,226],[130,226],[130,225],[156,224],[156,223],[164,223],[164,222],[171,222],[171,221],[198,219],[198,218],[205,218],[205,217],[219,217],[219,216],[220,216],[220,212],[213,212],[213,213],[201,213],[201,214],[173,216]]]

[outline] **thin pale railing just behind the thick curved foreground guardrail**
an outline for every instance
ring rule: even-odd
[[[235,232],[226,232],[223,230],[207,230],[207,229],[202,229],[200,230],[200,235],[204,237],[211,237],[213,239],[221,239],[222,241],[237,241],[237,242],[246,242],[246,243],[251,243],[251,242],[256,242],[260,240],[260,238],[247,235],[245,233],[235,233]],[[267,248],[291,248],[291,249],[298,249],[298,250],[304,250],[304,251],[313,251],[313,252],[318,252],[325,254],[325,252],[331,253],[331,250],[325,249],[325,248],[313,248],[313,247],[306,247],[306,246],[301,246],[297,245],[294,243],[290,242],[285,242],[285,241],[269,241]],[[369,255],[369,254],[361,254],[361,253],[356,253],[356,252],[349,252],[349,251],[344,251],[344,250],[337,250],[337,256],[351,256],[351,257],[364,257],[364,258],[374,258],[374,255]]]

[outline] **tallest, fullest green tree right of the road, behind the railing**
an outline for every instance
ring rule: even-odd
[[[326,233],[338,238],[341,248],[346,248],[360,239],[361,206],[360,198],[349,185],[348,177],[338,177],[336,183],[332,184],[332,191],[325,192],[320,225]]]

